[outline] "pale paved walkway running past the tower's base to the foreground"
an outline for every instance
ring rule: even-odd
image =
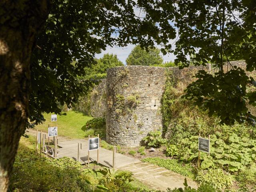
[[[26,133],[36,136],[35,130],[28,130]],[[58,136],[58,139],[59,138],[58,146],[61,148],[58,148],[57,158],[68,156],[76,160],[78,154],[78,143],[82,143],[80,162],[82,164],[86,164],[88,162],[88,140],[72,140],[70,138]],[[111,168],[112,157],[112,151],[100,148],[100,164]],[[97,160],[97,150],[90,151],[90,160]],[[122,154],[116,154],[115,168],[131,171],[134,174],[134,178],[144,182],[153,189],[163,191],[165,191],[166,188],[183,188],[184,179],[186,178],[180,174],[167,170],[166,168],[144,163],[140,160],[124,156]],[[192,181],[190,178],[186,179],[189,186],[197,188],[196,182]]]

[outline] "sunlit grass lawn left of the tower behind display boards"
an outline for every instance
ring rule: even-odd
[[[76,111],[68,111],[67,115],[57,115],[57,122],[51,122],[51,114],[44,114],[46,121],[43,124],[35,126],[35,129],[48,132],[48,124],[50,126],[58,126],[58,135],[67,136],[70,138],[84,138],[85,132],[82,127],[92,117],[85,116],[84,114]]]

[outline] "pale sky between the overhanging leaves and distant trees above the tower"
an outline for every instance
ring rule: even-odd
[[[103,50],[100,54],[96,54],[95,57],[96,58],[101,58],[106,53],[116,54],[118,59],[120,61],[122,61],[124,64],[126,64],[125,60],[126,60],[126,58],[128,57],[128,55],[130,54],[130,52],[132,51],[132,49],[134,47],[135,47],[135,45],[133,45],[133,44],[128,44],[128,46],[126,46],[126,47],[118,47],[118,46],[110,47],[110,46],[108,46],[106,48],[106,50]],[[176,58],[174,56],[174,54],[166,54],[164,56],[162,55],[162,57],[164,59],[164,62],[174,61],[174,59]]]

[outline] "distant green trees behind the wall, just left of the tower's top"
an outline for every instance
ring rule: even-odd
[[[95,59],[96,64],[92,64],[91,67],[86,67],[85,72],[87,79],[102,79],[106,78],[106,71],[108,68],[124,66],[123,62],[117,58],[114,54],[104,54],[102,58]]]

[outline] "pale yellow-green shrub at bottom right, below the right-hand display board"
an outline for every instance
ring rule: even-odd
[[[200,170],[196,181],[200,184],[211,184],[217,190],[224,190],[233,185],[232,176],[225,174],[222,169]]]

